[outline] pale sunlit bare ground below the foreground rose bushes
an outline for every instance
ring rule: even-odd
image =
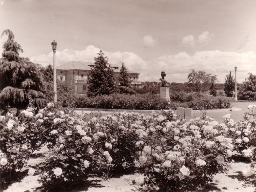
[[[30,159],[30,166],[40,162],[37,159]],[[226,173],[217,173],[214,175],[213,182],[204,190],[204,192],[255,192],[256,187],[250,183],[249,179],[242,176],[242,172],[248,168],[248,163],[233,163]],[[136,175],[128,175],[132,179]],[[91,186],[79,189],[80,192],[134,192],[135,188],[127,182],[126,175],[119,178],[110,178],[105,181],[102,178],[91,179]],[[3,192],[33,192],[41,184],[38,181],[39,175],[28,175],[20,182],[13,183]],[[76,191],[74,189],[74,191]]]

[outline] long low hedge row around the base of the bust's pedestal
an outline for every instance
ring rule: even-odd
[[[176,98],[176,99],[174,99]],[[124,95],[113,94],[105,96],[72,96],[66,97],[62,102],[63,107],[75,108],[103,108],[103,109],[136,109],[136,110],[160,110],[188,107],[194,110],[224,109],[230,107],[230,101],[223,97],[212,97],[203,94],[187,94],[173,97],[168,102],[156,94]]]

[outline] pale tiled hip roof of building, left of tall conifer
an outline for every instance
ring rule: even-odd
[[[62,70],[91,70],[91,67],[89,65],[93,65],[94,63],[90,62],[82,62],[82,61],[70,61],[68,63],[62,64],[57,66],[57,69]]]

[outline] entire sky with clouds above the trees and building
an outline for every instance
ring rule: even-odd
[[[28,57],[58,65],[109,63],[139,81],[186,82],[192,69],[237,82],[256,75],[256,0],[0,0],[0,32],[10,29]],[[7,39],[0,38],[0,45]],[[0,49],[0,53],[2,49]]]

